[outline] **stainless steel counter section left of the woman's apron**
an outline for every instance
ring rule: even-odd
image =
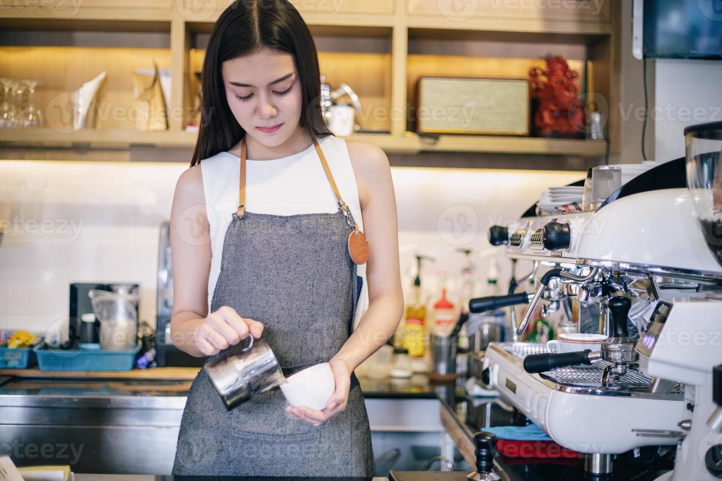
[[[0,385],[0,453],[20,466],[70,464],[77,472],[104,473],[135,466],[144,473],[168,474],[190,384],[5,379]]]

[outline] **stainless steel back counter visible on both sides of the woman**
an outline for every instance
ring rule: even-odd
[[[425,376],[361,381],[372,437],[381,433],[374,440],[378,454],[406,444],[402,436],[435,446],[443,426]],[[71,464],[80,473],[168,475],[191,382],[2,377],[0,455],[10,454],[19,466]]]

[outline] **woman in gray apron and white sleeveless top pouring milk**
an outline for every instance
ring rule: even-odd
[[[319,79],[288,1],[240,0],[220,15],[173,198],[171,336],[210,361],[262,335],[285,375],[329,362],[336,391],[321,411],[287,407],[278,389],[227,411],[201,370],[174,475],[373,476],[353,371],[401,318],[396,203],[383,151],[327,130]],[[364,270],[368,309],[352,330]]]

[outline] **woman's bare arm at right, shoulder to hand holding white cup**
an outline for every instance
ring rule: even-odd
[[[347,146],[370,251],[366,262],[369,306],[356,330],[330,361],[336,391],[326,409],[315,411],[308,407],[287,407],[288,412],[313,425],[320,425],[346,409],[352,371],[391,338],[404,313],[399,226],[388,158],[373,144],[347,141]]]

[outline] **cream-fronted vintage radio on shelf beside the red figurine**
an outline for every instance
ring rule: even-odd
[[[421,76],[419,133],[529,136],[529,80]]]

